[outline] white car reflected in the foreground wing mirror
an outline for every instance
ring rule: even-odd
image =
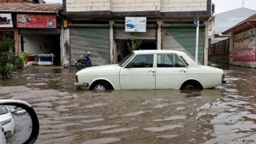
[[[0,123],[6,136],[14,134],[14,116],[7,106],[0,106]]]

